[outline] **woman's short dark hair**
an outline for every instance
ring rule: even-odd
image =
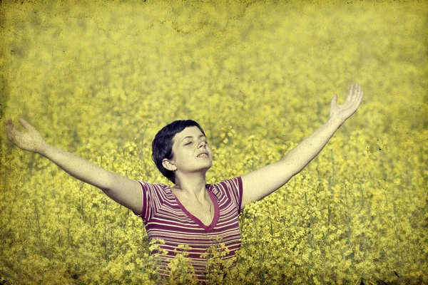
[[[167,160],[173,158],[173,138],[177,133],[188,127],[198,127],[205,135],[203,129],[194,120],[175,120],[158,131],[152,142],[152,159],[156,167],[158,167],[163,176],[173,183],[175,183],[175,173],[163,167],[162,160],[164,158]]]

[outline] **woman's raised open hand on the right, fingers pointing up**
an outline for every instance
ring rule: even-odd
[[[352,84],[348,92],[347,98],[342,105],[337,105],[337,94],[333,95],[330,105],[330,119],[339,120],[341,124],[345,123],[347,118],[354,114],[361,104],[364,92],[358,83]]]

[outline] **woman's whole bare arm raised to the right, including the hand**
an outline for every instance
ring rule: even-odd
[[[302,140],[278,162],[243,175],[243,202],[241,209],[250,201],[258,201],[279,189],[299,173],[325,147],[336,130],[354,114],[362,101],[363,92],[358,83],[350,86],[342,105],[337,105],[338,96],[333,95],[330,118],[310,136]]]

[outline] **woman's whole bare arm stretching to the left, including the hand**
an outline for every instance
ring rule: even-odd
[[[17,130],[11,119],[6,120],[7,137],[22,150],[36,152],[54,162],[69,175],[91,184],[111,197],[119,204],[140,213],[142,208],[141,186],[136,180],[131,180],[117,173],[110,172],[92,162],[49,145],[41,133],[24,119],[19,123],[28,132]]]

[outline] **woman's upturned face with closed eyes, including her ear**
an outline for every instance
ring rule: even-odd
[[[213,151],[198,127],[188,127],[173,138],[173,158],[170,162],[178,172],[198,172],[213,165]]]

